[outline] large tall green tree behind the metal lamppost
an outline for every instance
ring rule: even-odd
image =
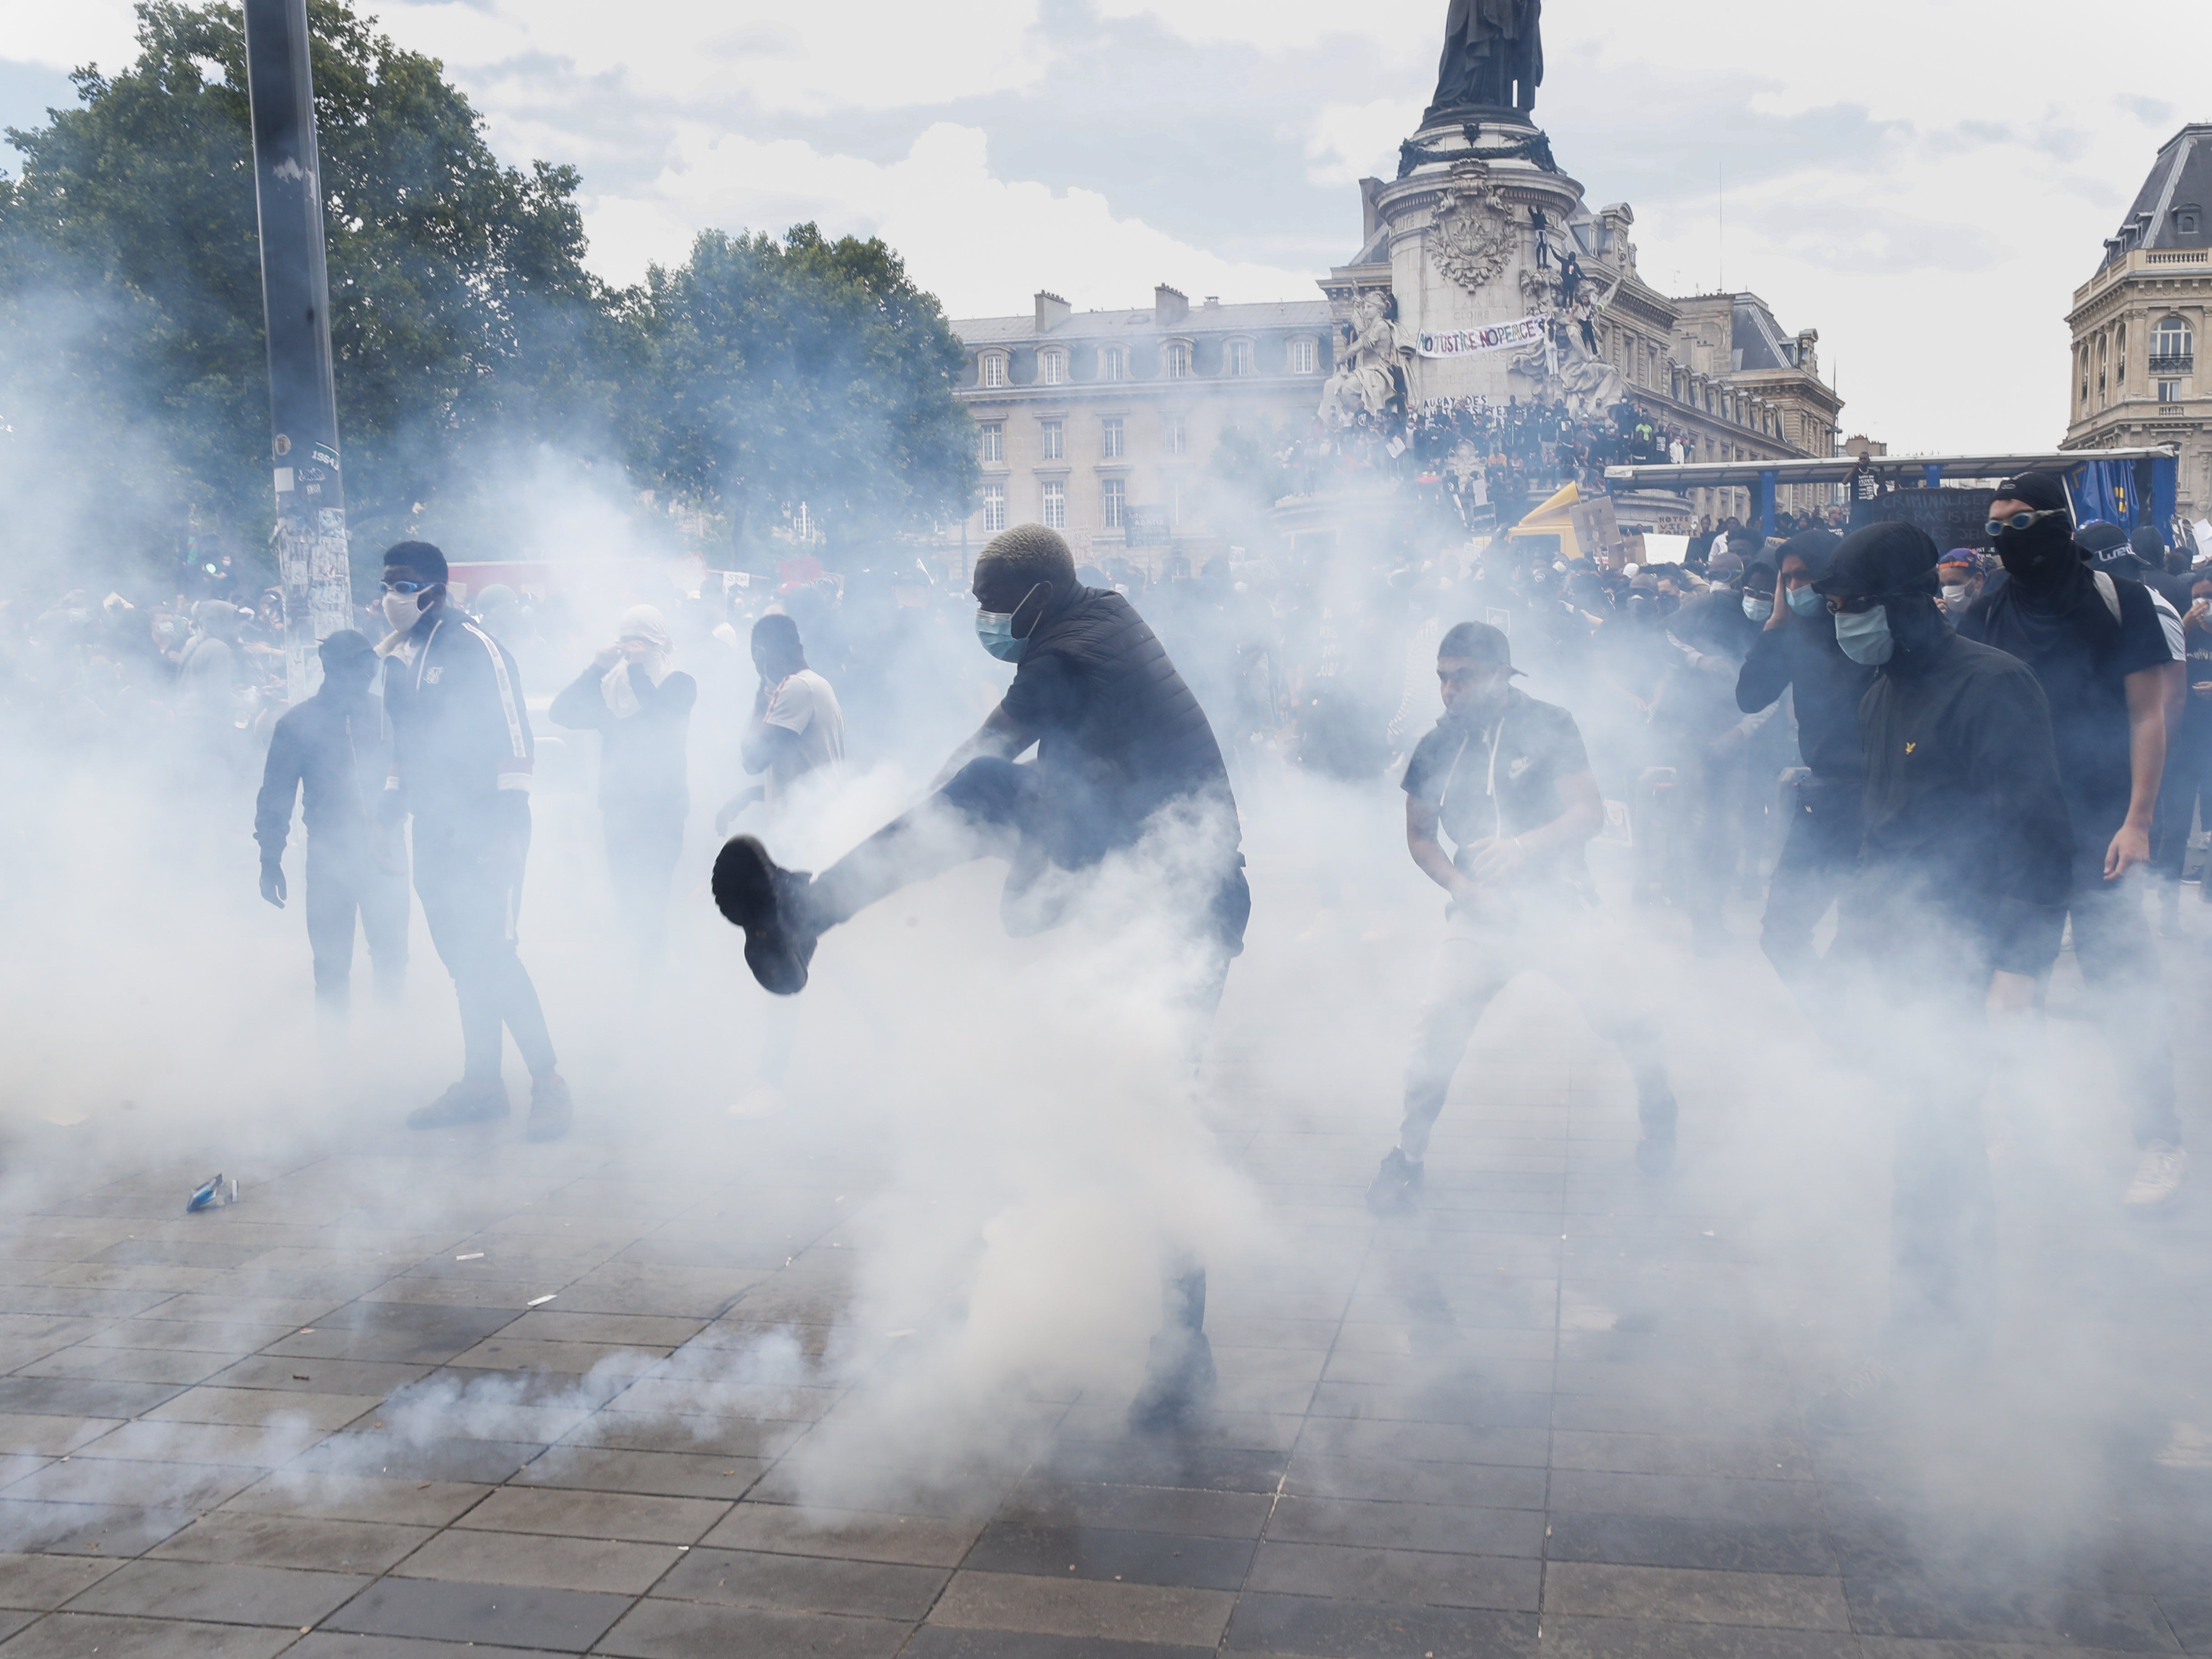
[[[246,35],[234,4],[137,7],[139,58],[9,131],[0,422],[71,456],[117,531],[272,513]],[[584,270],[573,168],[504,168],[440,64],[307,0],[338,442],[356,542],[498,451],[604,425],[624,323]]]

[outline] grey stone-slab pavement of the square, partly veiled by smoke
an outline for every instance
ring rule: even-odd
[[[1033,1398],[1033,1455],[843,1506],[794,1471],[889,1387],[810,1363],[865,1270],[849,1148],[770,1126],[721,1179],[363,1139],[201,1217],[206,1170],[80,1170],[0,1254],[0,1659],[2212,1650],[2194,1208],[2000,1161],[2013,1283],[2066,1316],[1836,1440],[1803,1409],[1867,1274],[1759,1175],[1809,1084],[1708,1113],[1725,1066],[1686,1077],[1681,1168],[1641,1177],[1617,1068],[1537,993],[1478,1040],[1425,1214],[1376,1225],[1374,1110],[1245,1082],[1217,1128],[1290,1243],[1214,1276],[1219,1409],[1133,1438],[1126,1389]]]

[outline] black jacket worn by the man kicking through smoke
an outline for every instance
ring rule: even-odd
[[[1194,799],[1237,845],[1237,801],[1206,710],[1113,588],[1073,588],[1029,635],[1004,710],[1037,732],[1037,770],[1095,852]],[[1225,814],[1225,816],[1223,816]]]

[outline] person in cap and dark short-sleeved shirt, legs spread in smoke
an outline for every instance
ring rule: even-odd
[[[1405,1071],[1405,1121],[1367,1188],[1367,1208],[1383,1217],[1420,1203],[1451,1075],[1482,1011],[1526,969],[1575,995],[1619,1046],[1637,1086],[1644,1168],[1666,1168],[1674,1148],[1659,1031],[1608,982],[1635,975],[1593,911],[1584,845],[1604,825],[1604,801],[1582,730],[1564,708],[1517,690],[1517,672],[1504,633],[1484,622],[1451,628],[1436,653],[1444,717],[1405,768],[1407,849],[1451,905]]]

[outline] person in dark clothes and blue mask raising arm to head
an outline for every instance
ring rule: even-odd
[[[1803,531],[1776,549],[1772,611],[1736,675],[1736,708],[1745,714],[1772,708],[1783,692],[1796,708],[1798,757],[1809,776],[1790,807],[1759,947],[1807,1013],[1823,1006],[1809,989],[1818,967],[1812,933],[1858,865],[1858,703],[1874,681],[1871,668],[1843,655],[1827,599],[1814,591],[1840,544],[1834,531]]]

